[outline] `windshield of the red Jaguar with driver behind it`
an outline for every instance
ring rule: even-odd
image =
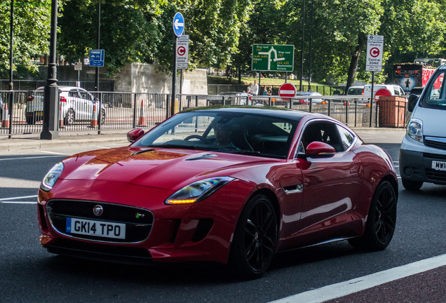
[[[285,159],[299,120],[240,112],[184,112],[137,140],[135,147],[199,149]]]

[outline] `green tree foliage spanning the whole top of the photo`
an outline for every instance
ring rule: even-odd
[[[368,34],[384,35],[388,66],[446,56],[444,0],[60,0],[58,54],[70,62],[97,48],[99,1],[100,48],[105,49],[109,76],[129,62],[156,62],[159,69],[171,72],[177,11],[184,15],[184,34],[189,34],[191,69],[249,72],[252,44],[292,44],[295,74],[301,69],[303,51],[304,78],[311,55],[313,81],[370,81],[371,73],[365,72]],[[31,58],[48,54],[50,2],[15,0],[15,65],[32,70]],[[9,69],[10,5],[8,0],[0,3],[3,78]],[[385,73],[375,76],[377,82],[386,80]]]

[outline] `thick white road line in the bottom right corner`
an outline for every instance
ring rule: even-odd
[[[299,293],[298,295],[292,295],[283,299],[278,299],[270,303],[320,303],[330,299],[336,299],[350,295],[354,292],[373,288],[375,286],[388,283],[391,281],[419,274],[424,271],[435,269],[446,265],[446,255],[439,255],[437,257],[431,257],[429,259],[421,260],[418,262],[406,264],[393,269],[387,269],[385,271],[379,271],[375,274],[363,276],[360,278],[354,278],[349,281],[327,285],[323,288],[315,290],[309,290],[307,292]]]

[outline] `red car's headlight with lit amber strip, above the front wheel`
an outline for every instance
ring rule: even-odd
[[[201,201],[232,180],[233,177],[212,177],[191,183],[167,198],[165,204],[191,204]]]

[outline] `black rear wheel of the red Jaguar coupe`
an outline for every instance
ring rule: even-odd
[[[363,236],[349,239],[354,248],[384,250],[391,242],[396,226],[397,196],[392,184],[381,182],[374,191]]]

